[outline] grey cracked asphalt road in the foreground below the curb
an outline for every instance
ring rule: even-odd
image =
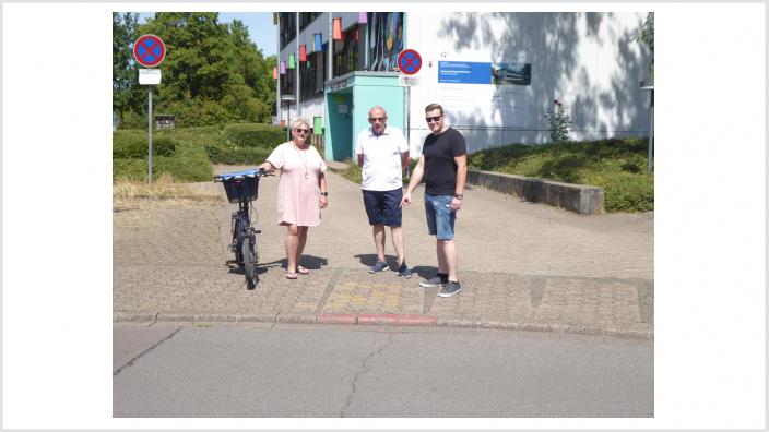
[[[114,417],[653,417],[653,341],[334,325],[114,326]]]

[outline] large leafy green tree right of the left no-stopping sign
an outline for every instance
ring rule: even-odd
[[[272,69],[242,22],[222,24],[213,12],[159,12],[140,29],[166,44],[157,109],[176,115],[177,124],[270,121]]]

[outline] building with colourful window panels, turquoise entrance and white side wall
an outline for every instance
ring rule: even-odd
[[[326,158],[352,157],[382,106],[412,155],[429,133],[428,104],[441,104],[470,153],[511,143],[547,143],[546,110],[559,100],[575,140],[646,136],[651,53],[631,38],[644,12],[281,12],[277,118],[310,120]],[[330,51],[329,51],[329,47]],[[421,57],[405,75],[404,49]]]

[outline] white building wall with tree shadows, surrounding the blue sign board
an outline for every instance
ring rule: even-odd
[[[549,142],[544,118],[563,101],[576,140],[640,136],[649,129],[649,52],[630,41],[639,13],[409,13],[406,47],[423,58],[411,89],[412,152],[429,133],[424,107],[439,103],[461,130],[469,152],[513,142]],[[438,84],[438,61],[532,64],[530,86]],[[431,62],[431,65],[430,65]]]

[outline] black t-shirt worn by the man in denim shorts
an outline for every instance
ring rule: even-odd
[[[440,135],[430,133],[425,139],[425,192],[433,195],[453,195],[457,187],[454,157],[468,153],[464,136],[449,128]]]

